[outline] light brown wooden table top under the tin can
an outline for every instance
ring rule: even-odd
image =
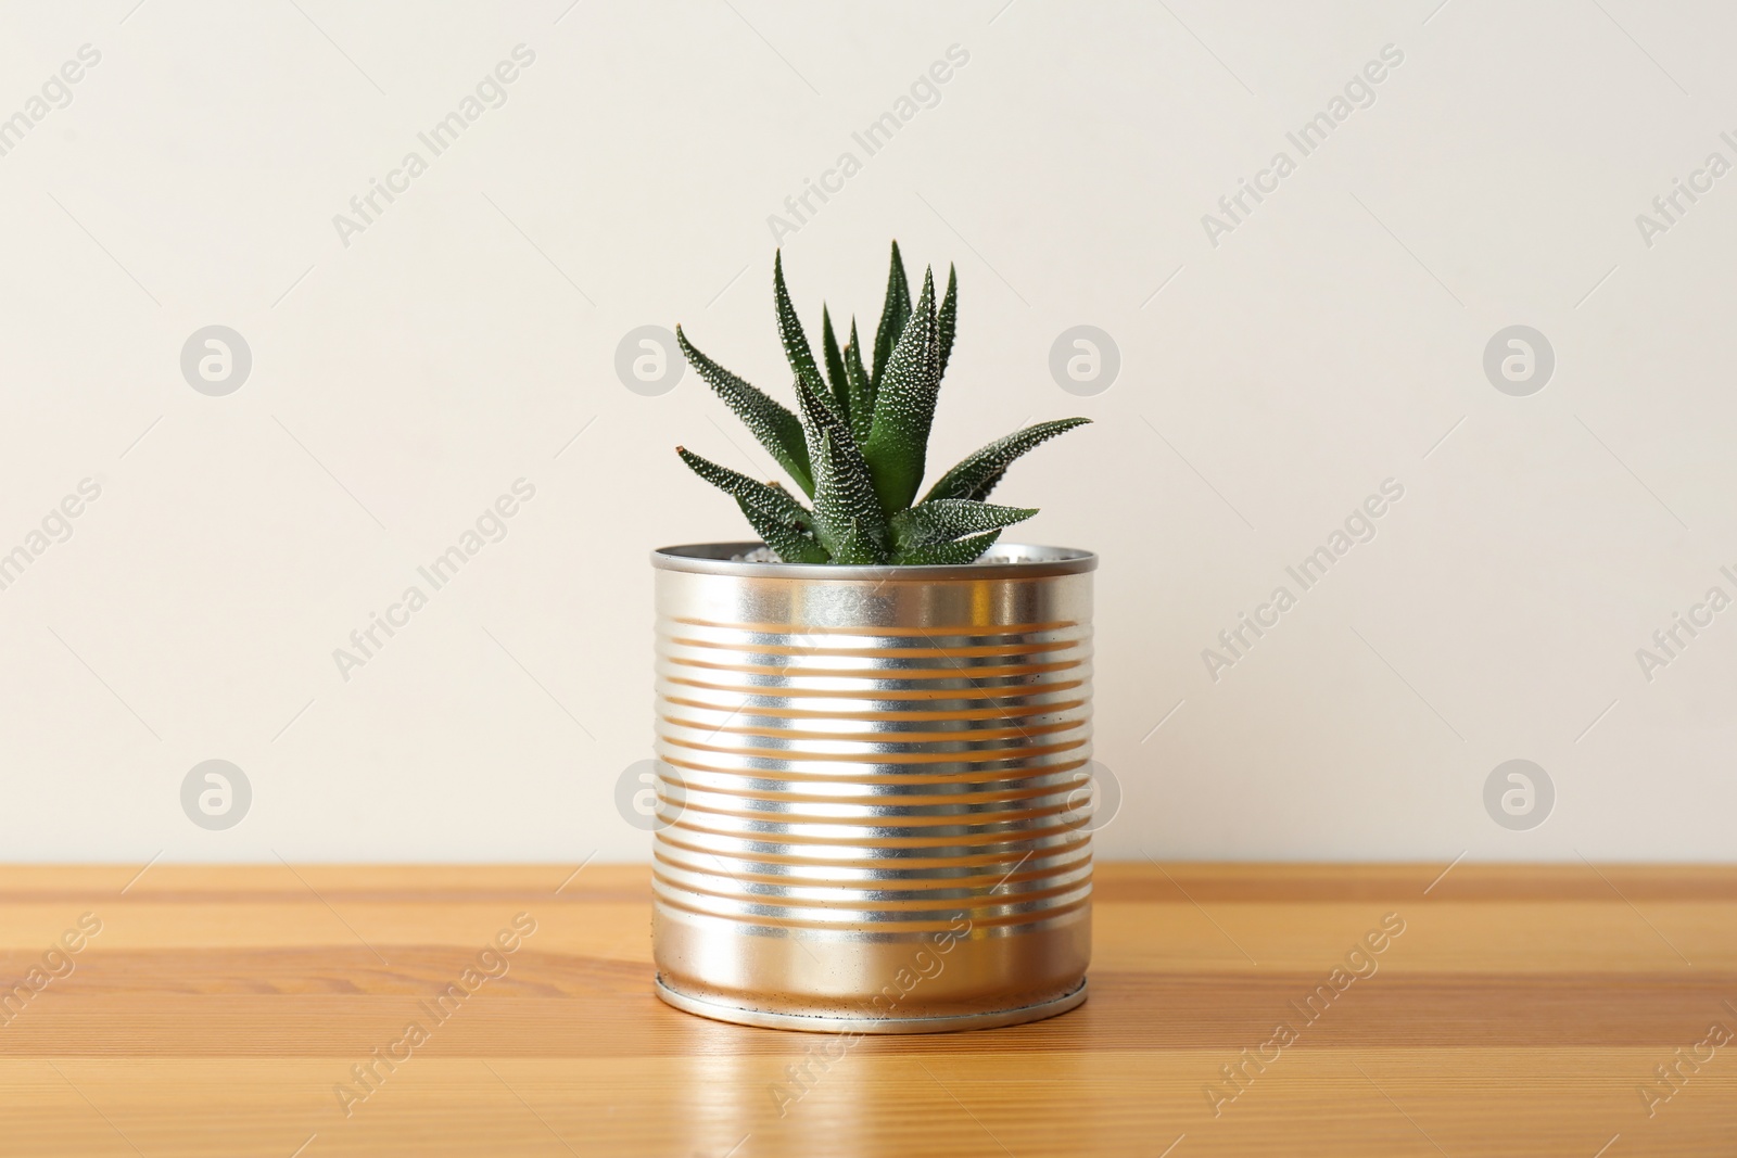
[[[1080,1010],[794,1083],[643,866],[9,868],[0,1155],[1737,1155],[1737,868],[1442,870],[1100,865]]]

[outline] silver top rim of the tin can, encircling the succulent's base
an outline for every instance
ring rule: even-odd
[[[1040,547],[1032,543],[995,543],[976,563],[915,566],[839,566],[832,563],[742,563],[735,556],[764,547],[759,540],[736,543],[683,543],[651,552],[651,566],[660,571],[690,575],[728,575],[731,578],[799,580],[875,580],[919,582],[1006,578],[1027,580],[1051,575],[1084,575],[1098,569],[1098,556],[1075,547]]]

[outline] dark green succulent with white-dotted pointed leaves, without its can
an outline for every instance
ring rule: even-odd
[[[802,333],[783,285],[783,255],[773,257],[778,335],[796,375],[797,411],[702,354],[676,326],[681,352],[761,446],[813,500],[804,507],[778,483],[761,483],[677,446],[702,479],[726,491],[783,563],[936,564],[971,563],[1002,528],[1030,519],[1032,507],[983,502],[1014,458],[1091,418],[1039,422],[968,455],[929,488],[922,484],[929,425],[941,375],[954,349],[959,280],[947,271],[947,295],[935,304],[935,271],[910,302],[905,262],[893,243],[886,302],[875,328],[872,366],[863,361],[851,319],[839,345],[832,313],[820,311],[822,361]],[[797,417],[801,415],[801,417]]]

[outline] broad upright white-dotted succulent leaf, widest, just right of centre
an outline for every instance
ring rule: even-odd
[[[888,514],[903,510],[922,484],[941,366],[935,335],[935,274],[922,276],[922,297],[888,358],[874,399],[874,427],[863,457],[874,472],[875,495]],[[961,495],[961,498],[966,498]]]

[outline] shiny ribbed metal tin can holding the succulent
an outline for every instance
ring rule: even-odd
[[[783,1030],[933,1033],[1086,1000],[1091,571],[653,552],[657,991]]]

